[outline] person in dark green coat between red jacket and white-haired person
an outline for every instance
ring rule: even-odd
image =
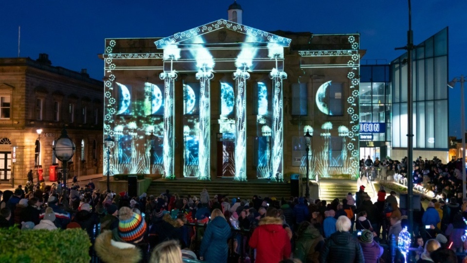
[[[304,221],[297,230],[293,258],[301,260],[302,263],[319,263],[320,251],[323,245],[324,239],[320,230]]]

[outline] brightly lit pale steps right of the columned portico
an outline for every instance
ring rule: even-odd
[[[349,192],[355,194],[357,190],[357,180],[320,179],[319,196],[321,200],[326,200],[328,203],[335,198],[342,200],[347,197]],[[376,195],[376,192],[370,183],[365,187],[365,192],[367,192],[370,197]]]

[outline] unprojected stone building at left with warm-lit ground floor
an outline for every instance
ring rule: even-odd
[[[25,184],[27,173],[61,163],[52,147],[65,127],[76,150],[72,175],[102,172],[103,85],[86,70],[52,66],[47,54],[0,58],[0,183]],[[40,132],[39,132],[40,131]]]

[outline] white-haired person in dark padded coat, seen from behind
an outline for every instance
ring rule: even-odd
[[[336,222],[336,232],[326,240],[320,255],[322,263],[364,263],[363,252],[357,238],[349,232],[350,219],[340,216]]]

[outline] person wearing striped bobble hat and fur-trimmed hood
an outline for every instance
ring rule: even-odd
[[[95,241],[97,256],[105,263],[139,263],[144,261],[144,250],[140,248],[146,232],[146,223],[141,215],[129,207],[119,210],[119,224],[113,231],[102,232]]]

